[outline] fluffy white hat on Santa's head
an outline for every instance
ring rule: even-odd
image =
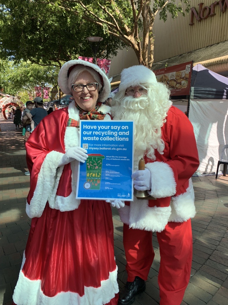
[[[132,66],[123,69],[121,72],[119,91],[125,91],[129,87],[136,87],[141,84],[157,84],[154,72],[145,66]]]

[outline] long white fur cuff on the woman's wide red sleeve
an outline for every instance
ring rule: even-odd
[[[26,206],[26,213],[29,217],[40,217],[43,213],[48,197],[53,193],[56,181],[59,181],[63,166],[58,168],[61,156],[57,151],[49,152],[40,168],[36,188],[30,205]],[[58,168],[58,169],[57,169]]]

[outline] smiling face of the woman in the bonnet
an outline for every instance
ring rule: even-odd
[[[74,84],[87,85],[90,83],[96,83],[96,81],[87,71],[83,71],[74,81]],[[72,89],[72,94],[75,102],[81,109],[91,111],[97,104],[98,91],[99,88],[94,91],[89,91],[86,87],[84,87],[81,92],[76,92]]]

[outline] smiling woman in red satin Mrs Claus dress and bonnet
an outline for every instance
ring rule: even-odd
[[[88,157],[79,146],[79,121],[112,119],[110,107],[102,104],[110,93],[109,79],[97,65],[70,60],[61,67],[58,83],[74,100],[43,118],[26,142],[31,173],[26,212],[32,223],[13,301],[116,305],[111,206],[76,199],[78,166]]]

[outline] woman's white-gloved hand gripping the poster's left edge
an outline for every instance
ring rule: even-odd
[[[61,156],[58,166],[68,164],[74,160],[85,163],[85,160],[88,158],[88,155],[86,153],[87,153],[87,150],[85,150],[84,148],[81,148],[79,146],[70,147],[67,149],[67,151],[64,153],[64,155]]]

